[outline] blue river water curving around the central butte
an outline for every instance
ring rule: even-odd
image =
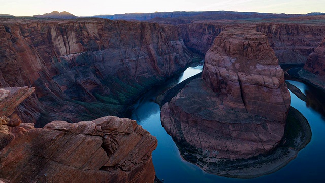
[[[180,83],[202,71],[203,66],[188,68],[166,85],[152,88],[134,105],[131,118],[157,137],[158,146],[152,153],[156,175],[164,182],[325,182],[325,117],[291,93],[291,106],[299,110],[309,121],[311,142],[302,149],[297,158],[275,173],[253,179],[236,179],[206,173],[198,166],[182,159],[179,150],[160,121],[160,108],[155,98],[161,90]],[[289,81],[303,93],[310,88],[297,81]],[[308,96],[307,96],[308,97]],[[323,97],[320,95],[320,97]],[[324,104],[325,105],[325,104]],[[319,111],[319,109],[318,109]]]

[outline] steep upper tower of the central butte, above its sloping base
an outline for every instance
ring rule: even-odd
[[[284,122],[290,93],[278,59],[265,43],[264,34],[251,30],[220,34],[206,54],[202,78],[214,92],[228,95],[227,108]]]

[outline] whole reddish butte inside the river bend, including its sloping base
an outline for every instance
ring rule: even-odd
[[[290,93],[263,33],[223,31],[206,54],[202,78],[161,108],[161,121],[181,149],[196,148],[198,158],[239,159],[278,145]]]

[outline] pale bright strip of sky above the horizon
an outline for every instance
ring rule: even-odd
[[[0,0],[0,14],[32,16],[67,11],[76,16],[172,11],[325,12],[325,0]]]

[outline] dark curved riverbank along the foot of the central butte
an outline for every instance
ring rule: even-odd
[[[205,157],[200,150],[177,143],[182,157],[204,171],[219,176],[250,179],[271,174],[286,166],[311,140],[311,130],[306,118],[291,107],[286,121],[285,134],[280,144],[269,154],[249,159],[217,159]]]

